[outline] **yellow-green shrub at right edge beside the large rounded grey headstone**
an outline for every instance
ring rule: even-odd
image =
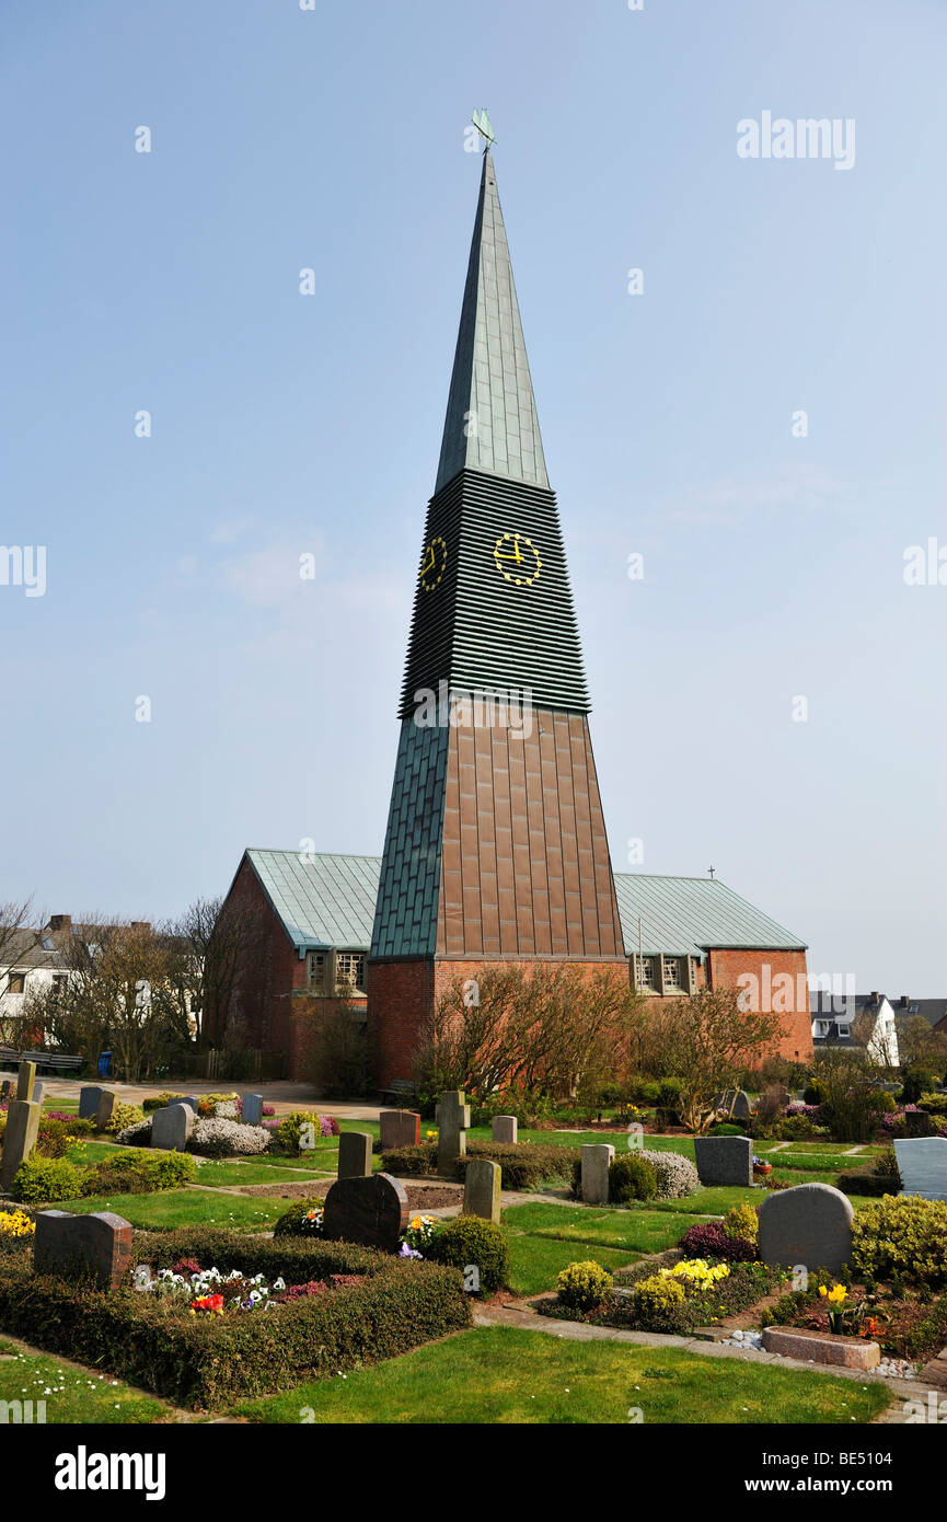
[[[856,1212],[851,1268],[859,1277],[947,1285],[947,1204],[886,1195]]]

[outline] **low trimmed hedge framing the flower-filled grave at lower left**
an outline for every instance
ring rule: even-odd
[[[190,1409],[289,1390],[358,1368],[470,1326],[457,1269],[347,1243],[260,1240],[218,1230],[136,1233],[132,1262],[279,1274],[291,1285],[362,1274],[359,1285],[306,1295],[277,1310],[189,1317],[134,1289],[104,1294],[32,1272],[32,1251],[0,1260],[0,1330],[27,1338]]]

